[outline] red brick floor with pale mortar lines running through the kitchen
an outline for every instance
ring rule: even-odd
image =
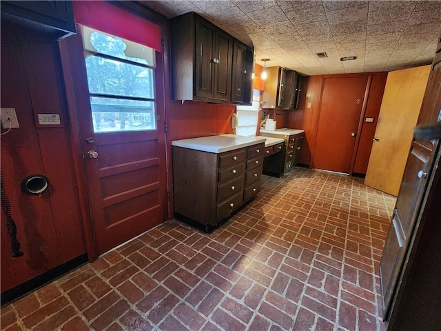
[[[384,330],[395,198],[295,168],[211,234],[167,221],[1,310],[1,330]]]

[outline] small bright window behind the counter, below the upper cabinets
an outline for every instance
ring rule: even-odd
[[[236,134],[240,136],[255,136],[260,110],[260,90],[254,89],[252,106],[237,106],[238,123]]]

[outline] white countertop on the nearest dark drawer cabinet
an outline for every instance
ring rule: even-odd
[[[172,141],[172,146],[210,153],[223,153],[251,146],[255,143],[263,143],[265,138],[266,137],[238,136],[236,134],[220,134],[218,136],[174,140]]]

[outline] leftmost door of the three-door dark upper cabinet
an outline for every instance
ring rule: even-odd
[[[213,97],[213,66],[214,54],[213,45],[214,30],[212,26],[205,24],[203,21],[196,20],[196,45],[195,45],[195,87],[194,94],[196,97],[212,98]]]

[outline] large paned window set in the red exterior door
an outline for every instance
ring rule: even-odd
[[[155,51],[82,28],[94,132],[156,130]]]

